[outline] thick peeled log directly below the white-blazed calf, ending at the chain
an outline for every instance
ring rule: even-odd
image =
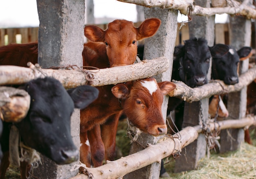
[[[142,151],[108,162],[97,168],[86,169],[95,179],[123,177],[129,172],[138,170],[154,162],[161,162],[161,159],[175,154],[177,151],[181,151],[184,146],[187,146],[198,138],[198,133],[193,127],[184,128],[180,131],[180,135],[182,136],[181,140],[165,137],[159,143],[150,145]],[[178,137],[177,135],[174,136]],[[88,176],[80,174],[71,179],[88,179]]]

